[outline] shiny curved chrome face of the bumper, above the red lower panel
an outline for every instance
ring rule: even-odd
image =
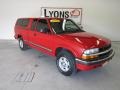
[[[85,61],[85,60],[81,60],[78,58],[76,58],[75,60],[76,60],[76,63],[78,63],[78,64],[93,65],[93,64],[99,64],[99,63],[102,63],[105,61],[109,61],[110,59],[112,59],[114,54],[115,54],[115,52],[112,51],[112,53],[108,57],[106,57],[104,59],[95,60],[95,61]]]

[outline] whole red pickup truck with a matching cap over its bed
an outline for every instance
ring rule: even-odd
[[[103,66],[114,56],[110,40],[85,32],[71,19],[20,18],[14,37],[21,50],[29,46],[56,56],[57,68],[66,76]]]

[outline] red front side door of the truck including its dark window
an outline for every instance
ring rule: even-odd
[[[47,31],[45,31],[47,30]],[[44,32],[45,31],[45,32]],[[53,35],[48,26],[46,19],[39,19],[36,25],[36,40],[37,47],[43,52],[52,52]]]

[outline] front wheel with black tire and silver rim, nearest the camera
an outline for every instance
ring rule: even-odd
[[[75,57],[68,51],[62,50],[57,55],[56,65],[58,70],[65,76],[76,74]]]

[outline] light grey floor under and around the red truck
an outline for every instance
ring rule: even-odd
[[[115,57],[106,66],[66,77],[54,57],[0,40],[0,90],[120,90],[120,42],[113,48]]]

